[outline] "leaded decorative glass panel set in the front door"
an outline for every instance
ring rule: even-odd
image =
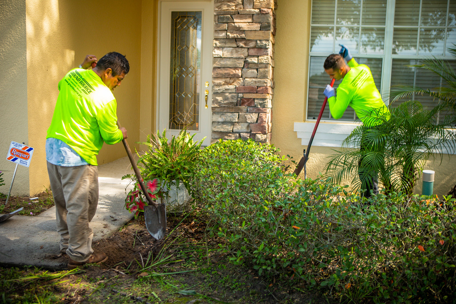
[[[198,130],[201,11],[171,13],[170,128]]]

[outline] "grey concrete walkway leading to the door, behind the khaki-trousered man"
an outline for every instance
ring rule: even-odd
[[[125,187],[129,180],[121,180],[133,173],[128,157],[98,167],[99,200],[92,220],[93,242],[108,237],[130,221],[133,214],[124,209]],[[129,186],[133,188],[132,185]],[[39,216],[15,215],[0,222],[0,263],[31,265],[51,269],[66,269],[66,259],[59,254],[55,206]]]

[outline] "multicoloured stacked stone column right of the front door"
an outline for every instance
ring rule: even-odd
[[[215,0],[212,142],[271,139],[275,0]]]

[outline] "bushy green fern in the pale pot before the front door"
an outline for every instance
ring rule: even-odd
[[[177,136],[166,138],[166,130],[157,131],[147,136],[145,153],[136,152],[139,156],[138,167],[144,180],[158,178],[167,186],[179,186],[182,182],[188,191],[190,182],[197,168],[198,155],[204,139],[193,141],[195,134],[182,129]],[[135,176],[131,176],[135,180]],[[163,186],[163,185],[162,185]]]

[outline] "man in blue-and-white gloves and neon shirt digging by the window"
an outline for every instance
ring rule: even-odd
[[[331,115],[334,119],[339,119],[350,106],[364,125],[375,128],[385,119],[389,119],[389,109],[383,103],[369,67],[358,64],[350,55],[347,46],[340,46],[342,47],[339,54],[329,55],[323,65],[325,72],[332,79],[342,80],[337,87],[337,94],[330,85],[327,85],[323,92],[328,98]],[[362,152],[372,149],[372,144],[362,139],[360,149]],[[376,173],[367,172],[363,165],[363,156],[359,160],[358,175],[361,180],[361,190],[366,190],[362,192],[363,196],[370,196],[371,191],[373,194],[378,194]]]

